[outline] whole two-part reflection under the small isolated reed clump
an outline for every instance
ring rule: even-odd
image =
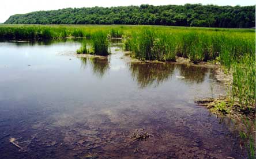
[[[93,74],[98,77],[103,77],[110,68],[108,57],[81,57],[80,60],[81,68],[86,68],[86,65],[89,64],[92,68]]]

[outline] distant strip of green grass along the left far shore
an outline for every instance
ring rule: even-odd
[[[98,31],[108,33],[109,37],[122,37],[120,26],[92,25],[1,25],[0,38],[15,40],[50,39],[66,37],[92,37]]]

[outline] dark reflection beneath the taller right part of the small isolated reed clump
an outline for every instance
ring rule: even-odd
[[[103,77],[103,75],[107,72],[109,67],[107,58],[91,58],[90,64],[92,66],[92,71],[95,75]]]

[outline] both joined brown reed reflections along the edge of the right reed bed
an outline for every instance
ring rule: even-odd
[[[194,67],[184,64],[171,63],[131,63],[129,65],[131,76],[135,79],[141,88],[149,87],[167,81],[173,74],[185,77],[185,83],[202,83],[206,75],[211,75],[210,69],[204,67]],[[213,75],[209,76],[209,80]]]

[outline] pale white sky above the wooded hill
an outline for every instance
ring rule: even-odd
[[[186,3],[202,3],[203,5],[213,4],[220,6],[248,6],[255,5],[254,0],[1,0],[0,23],[5,22],[10,15],[29,13],[39,10],[56,10],[67,7],[94,7],[94,6],[139,6],[149,5],[184,5]]]

